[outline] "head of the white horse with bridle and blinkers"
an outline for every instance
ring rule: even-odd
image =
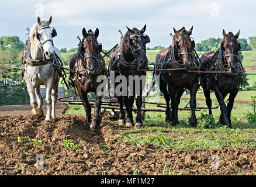
[[[53,37],[57,36],[57,32],[50,27],[52,17],[49,20],[42,20],[37,17],[37,23],[34,27],[33,37],[36,37],[39,48],[43,51],[43,55],[47,60],[51,60],[54,56]]]

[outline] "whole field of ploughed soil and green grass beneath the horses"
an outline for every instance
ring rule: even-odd
[[[157,53],[147,51],[150,63]],[[243,54],[243,64],[251,68],[247,76],[251,85],[254,61],[250,51]],[[252,95],[256,91],[238,92],[231,115],[233,129],[218,122],[219,108],[213,109],[214,120],[208,127],[202,126],[208,124],[202,115],[207,109],[196,112],[196,128],[189,125],[190,111],[178,112],[177,126],[165,123],[164,112],[146,112],[144,129],[120,126],[117,117],[106,112],[101,115],[101,128],[92,132],[82,105],[67,108],[58,103],[58,118],[52,122],[31,116],[29,106],[2,106],[0,175],[255,175],[256,123],[247,119],[253,112]],[[197,106],[206,106],[202,90],[196,98]],[[217,106],[214,93],[211,98]],[[146,101],[165,102],[153,96]],[[179,107],[188,102],[189,95],[182,95]],[[146,108],[154,106],[146,104]],[[133,117],[136,120],[136,114]]]

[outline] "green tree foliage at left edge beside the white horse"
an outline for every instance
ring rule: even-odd
[[[0,37],[0,105],[29,103],[25,81],[19,82],[23,49],[18,36]]]

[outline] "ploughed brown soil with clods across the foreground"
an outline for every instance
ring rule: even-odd
[[[0,175],[161,175],[171,174],[237,175],[255,174],[256,148],[221,148],[208,150],[158,149],[151,144],[131,146],[113,139],[127,129],[115,122],[106,123],[92,133],[84,116],[60,115],[56,122],[43,117],[0,117]],[[17,137],[45,140],[33,146]],[[63,140],[73,140],[82,148],[67,150]],[[108,146],[106,146],[108,145]],[[37,169],[36,155],[43,157],[44,169]],[[219,157],[219,169],[212,169],[213,155]],[[26,164],[24,169],[22,164]],[[168,165],[165,165],[168,164]]]

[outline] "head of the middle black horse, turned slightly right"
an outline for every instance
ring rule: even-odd
[[[150,38],[146,34],[143,34],[146,30],[146,25],[141,30],[136,28],[129,29],[129,27],[127,27],[127,29],[128,32],[124,37],[127,37],[129,41],[129,48],[135,60],[137,60],[138,66],[140,67],[140,65],[147,64],[146,43],[150,42]]]

